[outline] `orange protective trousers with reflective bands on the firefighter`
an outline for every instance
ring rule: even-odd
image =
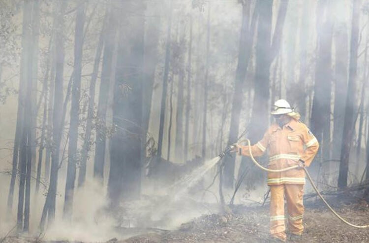
[[[271,185],[270,203],[270,233],[273,237],[286,240],[285,218],[288,219],[289,230],[294,235],[301,235],[304,231],[304,185],[281,184]],[[287,202],[287,215],[284,213],[284,198]]]

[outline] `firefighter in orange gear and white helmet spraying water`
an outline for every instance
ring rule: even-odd
[[[268,168],[279,170],[298,165],[297,169],[281,173],[268,173],[267,183],[271,192],[270,233],[277,241],[285,242],[285,219],[288,221],[292,239],[299,239],[304,231],[303,194],[305,171],[318,151],[319,143],[307,126],[300,121],[286,100],[277,100],[272,106],[273,123],[263,139],[251,146],[253,156],[268,152]],[[249,156],[249,147],[235,144],[239,155]],[[284,212],[284,199],[287,213]]]

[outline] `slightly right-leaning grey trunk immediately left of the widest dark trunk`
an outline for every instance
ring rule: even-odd
[[[105,147],[106,147],[106,110],[109,95],[109,82],[113,60],[114,40],[117,35],[115,10],[113,9],[114,1],[110,2],[109,20],[105,36],[104,55],[102,60],[101,83],[99,90],[99,100],[97,104],[97,118],[99,126],[96,130],[96,146],[95,146],[95,161],[93,167],[93,176],[101,183],[104,179],[104,164],[105,164]]]

